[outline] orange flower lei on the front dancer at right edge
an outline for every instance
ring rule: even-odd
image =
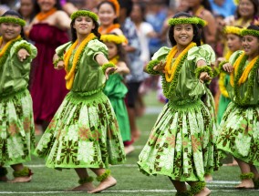
[[[233,85],[234,85],[234,74],[236,75],[239,66],[242,66],[242,65],[241,65],[241,62],[242,62],[242,60],[243,60],[243,57],[245,57],[244,52],[243,52],[243,54],[242,54],[240,57],[238,57],[238,58],[236,59],[236,61],[235,61],[234,64],[233,64],[233,69],[234,69],[233,72],[234,72],[234,73],[233,73],[233,72],[231,73],[231,80],[230,80],[230,83],[231,83],[231,86],[232,86],[232,87],[233,87]],[[238,85],[239,85],[239,86],[240,86],[241,84],[243,84],[243,83],[246,81],[246,79],[247,79],[247,77],[248,77],[248,75],[249,75],[251,69],[254,67],[254,64],[255,64],[256,60],[258,59],[258,57],[259,57],[259,56],[254,57],[254,59],[251,60],[250,63],[244,68],[243,73],[242,73],[242,76],[241,76],[241,77],[239,78],[239,80],[238,80]]]

